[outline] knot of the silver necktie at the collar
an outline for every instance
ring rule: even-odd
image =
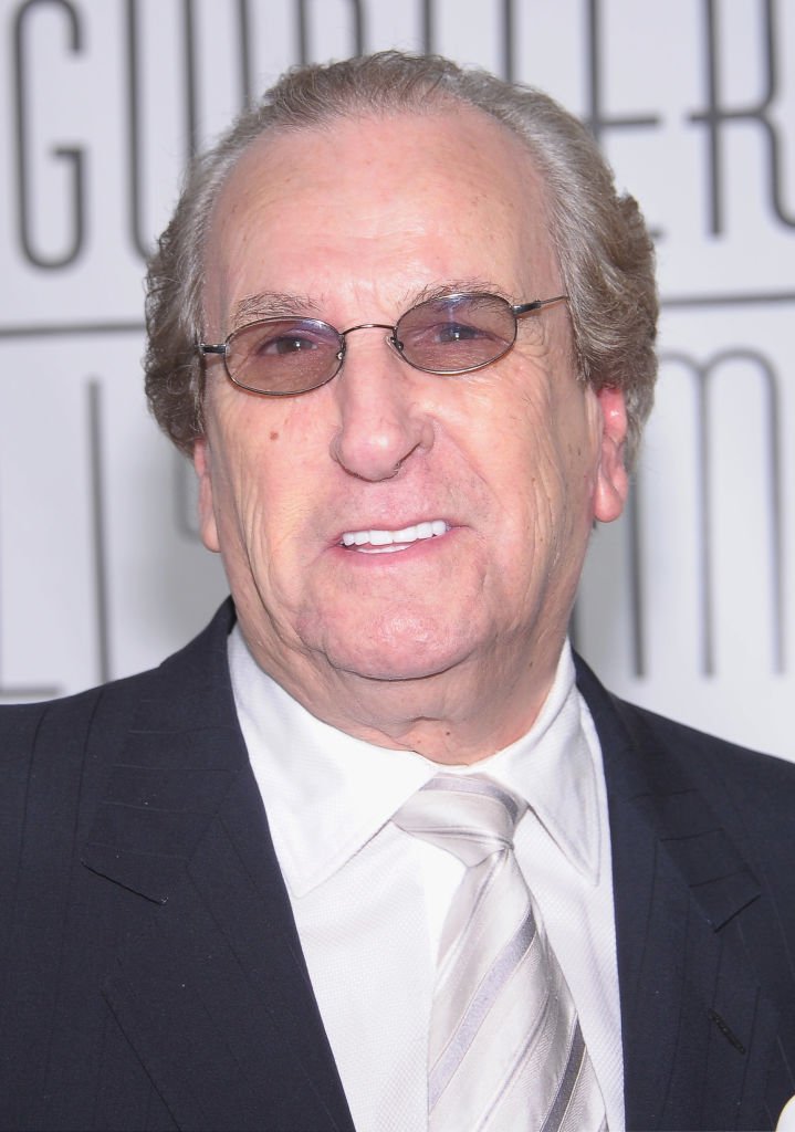
[[[482,774],[437,774],[393,820],[407,833],[471,866],[513,847],[516,824],[525,809],[525,801]]]

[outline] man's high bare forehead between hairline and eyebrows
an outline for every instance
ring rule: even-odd
[[[546,189],[523,140],[461,104],[334,118],[260,138],[238,160],[212,214],[206,309],[229,310],[255,278],[302,293],[335,271],[453,268],[456,278],[507,275],[502,286],[522,297],[536,276],[545,286],[559,277]]]

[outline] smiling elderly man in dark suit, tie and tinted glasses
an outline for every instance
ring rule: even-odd
[[[232,601],[3,717],[2,1127],[771,1127],[795,767],[566,643],[655,374],[585,130],[439,59],[296,70],[149,283]]]

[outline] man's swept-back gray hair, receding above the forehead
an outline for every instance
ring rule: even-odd
[[[366,114],[421,115],[451,102],[491,115],[527,145],[546,187],[578,370],[597,389],[624,392],[632,462],[657,372],[655,257],[638,204],[617,195],[591,135],[548,95],[436,55],[399,51],[293,68],[189,169],[149,261],[146,298],[146,395],[180,449],[189,453],[204,432],[196,350],[204,248],[215,201],[240,156],[264,136]]]

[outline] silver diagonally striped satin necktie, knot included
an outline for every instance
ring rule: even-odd
[[[576,1010],[513,854],[527,803],[438,774],[394,816],[467,872],[442,933],[428,1049],[430,1132],[599,1132]]]

